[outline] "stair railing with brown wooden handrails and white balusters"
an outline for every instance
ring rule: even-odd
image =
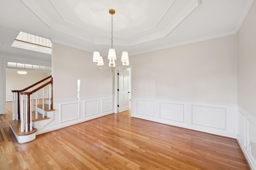
[[[44,82],[45,80],[50,81],[39,85],[40,83]],[[36,86],[38,86],[36,88]],[[47,86],[47,87],[46,87]],[[26,91],[28,89],[32,88],[32,91]],[[35,89],[34,89],[35,88]],[[21,132],[28,132],[32,131],[32,111],[34,111],[34,95],[36,96],[35,102],[36,102],[36,111],[35,118],[38,119],[38,104],[39,104],[39,93],[42,92],[42,101],[43,101],[43,108],[42,108],[42,117],[44,117],[44,88],[48,88],[46,92],[47,97],[49,99],[49,109],[53,109],[53,78],[52,76],[48,76],[47,78],[44,78],[43,80],[40,80],[39,82],[36,82],[35,84],[23,89],[23,90],[12,90],[13,92],[13,120],[20,119],[21,121]],[[41,90],[42,89],[42,90]]]

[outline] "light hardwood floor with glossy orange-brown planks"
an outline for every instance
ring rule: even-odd
[[[18,144],[11,102],[0,115],[0,169],[248,170],[235,139],[154,123],[129,112],[38,135]],[[72,113],[70,113],[72,114]]]

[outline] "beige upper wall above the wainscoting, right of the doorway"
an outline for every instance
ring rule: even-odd
[[[237,36],[130,57],[133,96],[237,103]]]

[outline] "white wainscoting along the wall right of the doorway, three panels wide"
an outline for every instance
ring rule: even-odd
[[[132,117],[236,138],[237,105],[132,98]]]

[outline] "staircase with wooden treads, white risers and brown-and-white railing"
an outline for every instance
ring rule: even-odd
[[[53,78],[48,76],[23,90],[12,90],[13,114],[9,122],[18,143],[36,139],[36,132],[54,119],[52,86]]]

